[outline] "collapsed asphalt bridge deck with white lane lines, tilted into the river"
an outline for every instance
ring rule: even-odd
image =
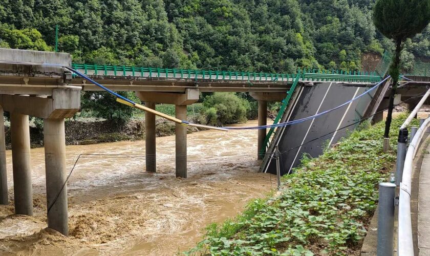
[[[298,120],[335,108],[374,87],[371,83],[320,82],[302,83],[296,89],[283,122]],[[291,173],[304,155],[318,157],[329,145],[353,131],[366,112],[376,90],[328,114],[284,127],[279,127],[271,142],[281,153],[281,175]],[[276,174],[273,151],[268,151],[260,169]]]

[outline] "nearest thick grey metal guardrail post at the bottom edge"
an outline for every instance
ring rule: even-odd
[[[393,255],[395,189],[395,184],[379,183],[378,256]]]

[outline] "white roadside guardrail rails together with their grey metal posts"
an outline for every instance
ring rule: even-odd
[[[421,140],[430,126],[430,117],[423,120],[419,129],[412,127],[410,144],[408,142],[407,127],[415,118],[423,103],[430,96],[430,89],[423,95],[416,108],[406,118],[399,129],[397,140],[397,161],[395,184],[379,184],[379,210],[378,210],[378,245],[377,255],[393,255],[394,231],[394,200],[396,185],[400,187],[398,203],[398,244],[397,255],[414,256],[411,221],[411,183],[412,169],[415,154]]]

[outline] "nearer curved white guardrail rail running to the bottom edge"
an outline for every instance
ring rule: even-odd
[[[398,229],[398,255],[414,255],[414,244],[412,242],[412,222],[411,222],[411,190],[412,190],[412,169],[413,160],[417,153],[419,144],[425,131],[430,126],[430,118],[427,118],[419,127],[417,133],[407,148],[404,160],[402,181],[400,183],[399,195],[399,229]]]

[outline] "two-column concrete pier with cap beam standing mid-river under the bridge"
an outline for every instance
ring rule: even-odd
[[[136,92],[136,95],[145,104],[150,105],[150,102],[164,103],[164,104],[174,104],[176,118],[181,120],[187,119],[187,105],[192,104],[199,100],[199,89],[185,89],[184,93],[169,93],[169,92]],[[155,104],[155,103],[153,103]],[[155,105],[154,105],[155,108]],[[149,113],[145,114],[145,118],[148,117]],[[156,152],[155,152],[155,117],[154,122],[150,121],[150,135],[149,137],[153,139],[148,139],[146,137],[146,166],[150,166],[148,159],[151,162],[156,162]],[[149,125],[149,124],[146,124]],[[154,129],[154,130],[152,130]],[[146,131],[148,131],[148,126],[146,126]],[[146,135],[148,136],[148,134]],[[176,177],[187,178],[187,128],[185,125],[176,124],[175,130],[176,136]],[[149,145],[148,145],[149,144]],[[150,151],[148,151],[148,148]],[[149,157],[149,158],[148,158]],[[148,167],[147,167],[148,170]],[[155,170],[155,165],[154,165]]]

